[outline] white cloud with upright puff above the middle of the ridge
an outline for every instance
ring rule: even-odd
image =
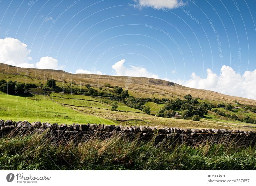
[[[140,66],[130,65],[128,68],[124,66],[125,59],[121,59],[112,65],[112,68],[115,70],[115,74],[119,76],[135,76],[135,77],[150,77],[159,79],[159,76],[152,74],[147,71],[146,68]]]

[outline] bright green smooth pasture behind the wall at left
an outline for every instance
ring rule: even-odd
[[[106,123],[116,124],[112,120],[87,115],[75,109],[61,106],[48,96],[33,95],[20,97],[0,92],[0,116],[4,120],[28,120],[50,123]]]

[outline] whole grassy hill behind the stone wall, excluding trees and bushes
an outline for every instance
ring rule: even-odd
[[[98,92],[117,94],[113,86],[128,90],[131,97],[135,98],[166,98],[184,99],[184,95],[191,94],[200,102],[212,104],[240,103],[240,109],[225,110],[230,114],[235,113],[239,118],[250,116],[256,119],[256,114],[246,111],[246,107],[254,107],[255,100],[241,97],[223,95],[208,90],[192,89],[176,83],[141,77],[122,77],[94,74],[70,74],[60,70],[45,70],[32,68],[19,68],[0,63],[0,80],[18,81],[35,84],[36,88],[30,88],[31,94],[27,96],[8,95],[0,91],[0,119],[48,121],[50,123],[104,123],[115,125],[148,125],[168,126],[180,128],[237,128],[248,130],[245,126],[254,127],[255,124],[244,123],[229,117],[224,117],[215,112],[208,111],[200,121],[182,120],[174,118],[156,117],[157,111],[164,106],[162,103],[146,101],[151,114],[146,114],[139,109],[131,108],[121,98],[89,96],[82,94],[70,94],[63,92],[44,91],[43,87],[49,79],[55,79],[59,89],[77,88]],[[111,85],[111,86],[108,86]],[[111,111],[111,104],[117,101],[117,111]],[[217,108],[222,109],[223,108]],[[176,110],[179,112],[179,110]],[[252,128],[250,128],[251,130]]]

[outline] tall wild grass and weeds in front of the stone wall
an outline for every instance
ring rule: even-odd
[[[2,170],[254,170],[256,148],[235,143],[188,146],[122,135],[54,140],[49,131],[0,139]]]

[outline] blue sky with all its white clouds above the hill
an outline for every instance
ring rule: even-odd
[[[256,99],[256,1],[0,0],[0,62]]]

